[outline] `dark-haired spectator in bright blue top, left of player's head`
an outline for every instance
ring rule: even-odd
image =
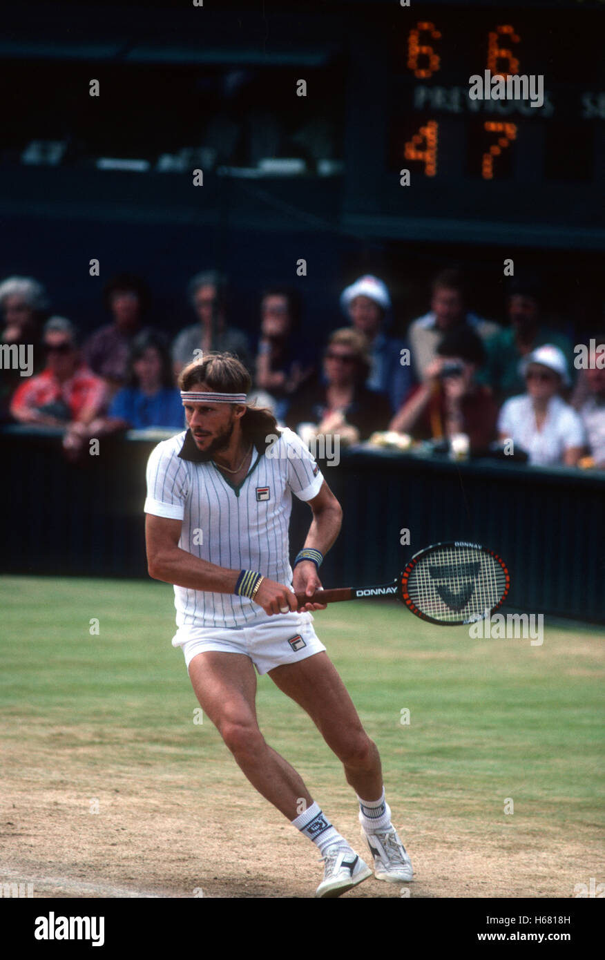
[[[131,349],[130,378],[127,387],[113,397],[107,423],[98,432],[108,429],[148,427],[184,429],[180,392],[173,386],[168,343],[156,330],[141,330]]]

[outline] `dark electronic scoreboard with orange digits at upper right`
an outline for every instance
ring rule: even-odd
[[[605,4],[398,13],[373,87],[381,170],[362,148],[373,186],[356,184],[365,212],[426,239],[487,228],[488,242],[602,247]]]

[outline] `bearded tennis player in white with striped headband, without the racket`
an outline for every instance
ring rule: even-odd
[[[317,897],[339,897],[372,871],[264,740],[254,668],[306,710],[343,763],[375,876],[411,880],[378,751],[313,629],[311,612],[326,605],[300,607],[295,595],[322,588],[318,571],[340,530],[340,505],[299,437],[247,405],[250,376],[229,353],[189,364],[179,386],[188,430],[149,458],[147,559],[152,577],[174,584],[172,643],[182,648],[200,706],[256,790],[318,848],[325,871]],[[294,570],[292,493],[313,515]]]

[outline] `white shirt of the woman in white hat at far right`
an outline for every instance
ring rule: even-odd
[[[582,420],[560,396],[550,397],[542,430],[536,426],[531,397],[512,396],[502,405],[497,429],[519,444],[529,454],[529,463],[536,467],[561,465],[570,446],[586,443]]]

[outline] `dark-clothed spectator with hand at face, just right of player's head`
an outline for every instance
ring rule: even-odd
[[[256,387],[273,397],[272,409],[283,420],[290,397],[314,371],[308,341],[296,333],[300,303],[294,291],[270,287],[260,300],[260,337],[256,350]]]

